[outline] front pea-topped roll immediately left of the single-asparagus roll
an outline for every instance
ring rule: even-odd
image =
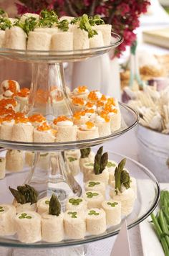
[[[14,222],[19,241],[31,244],[41,240],[41,216],[37,212],[20,212]]]

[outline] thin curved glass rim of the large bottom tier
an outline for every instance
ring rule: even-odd
[[[110,153],[112,153],[113,155],[116,155],[118,157],[122,157],[122,158],[126,158],[127,160],[130,160],[132,163],[134,163],[135,165],[137,166],[140,166],[140,168],[143,168],[145,170],[145,173],[151,178],[151,180],[153,180],[153,182],[155,183],[155,186],[156,186],[156,197],[155,197],[155,200],[152,204],[152,206],[150,207],[150,209],[145,213],[145,214],[142,214],[142,216],[140,216],[139,219],[137,219],[137,221],[134,221],[132,224],[129,224],[127,225],[127,229],[131,229],[132,227],[135,227],[137,224],[140,224],[140,222],[144,221],[145,219],[148,218],[148,216],[154,211],[154,209],[156,208],[156,206],[158,205],[158,202],[160,200],[160,184],[158,183],[158,180],[155,178],[155,175],[153,175],[153,173],[148,169],[146,168],[144,165],[142,165],[141,163],[138,163],[136,160],[133,160],[132,158],[130,157],[127,157],[125,155],[122,155],[122,154],[119,154],[117,152],[112,152],[109,150]],[[126,219],[126,218],[125,218]],[[125,221],[122,220],[121,222],[121,225],[122,226],[122,223]],[[68,242],[65,242],[64,243],[44,243],[44,244],[25,244],[25,243],[20,243],[20,244],[16,244],[16,243],[12,243],[12,240],[11,240],[11,244],[9,244],[9,242],[1,242],[1,237],[0,237],[0,246],[4,246],[4,247],[19,247],[19,248],[34,248],[34,249],[38,249],[38,248],[59,248],[59,247],[69,247],[69,246],[77,246],[77,245],[82,245],[82,244],[88,244],[90,242],[97,242],[101,239],[106,239],[106,238],[109,238],[109,237],[113,237],[115,236],[116,234],[118,234],[120,232],[120,229],[116,230],[115,232],[110,232],[109,234],[100,234],[99,236],[95,236],[95,237],[91,237],[91,238],[87,238],[87,239],[72,239],[70,242],[68,240]],[[9,239],[10,240],[10,239]]]

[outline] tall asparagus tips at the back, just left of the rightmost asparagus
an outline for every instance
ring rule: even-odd
[[[100,147],[99,150],[97,150],[97,153],[95,155],[95,163],[94,163],[94,173],[96,175],[102,173],[103,170],[105,170],[105,167],[107,165],[108,160],[108,154],[105,152],[102,155],[103,147]]]

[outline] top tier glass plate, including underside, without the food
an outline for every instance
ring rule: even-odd
[[[0,48],[0,56],[9,60],[26,61],[29,63],[62,63],[87,60],[114,49],[122,43],[122,37],[112,32],[110,45],[84,50],[41,51],[41,50],[13,50]]]

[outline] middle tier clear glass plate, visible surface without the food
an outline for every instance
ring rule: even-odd
[[[92,140],[76,140],[71,142],[54,142],[54,143],[37,143],[37,142],[15,142],[9,140],[0,140],[0,146],[14,150],[29,151],[64,151],[73,150],[75,148],[92,147],[99,145],[108,140],[112,140],[135,127],[138,122],[137,112],[129,106],[120,103],[120,111],[122,114],[122,122],[120,130],[113,132],[105,137],[98,137]]]

